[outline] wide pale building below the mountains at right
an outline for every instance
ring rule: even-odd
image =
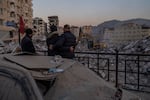
[[[104,42],[111,45],[120,45],[143,39],[150,35],[150,27],[135,23],[125,23],[115,28],[107,28],[104,32]]]

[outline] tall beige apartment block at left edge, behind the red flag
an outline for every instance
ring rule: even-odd
[[[24,19],[25,27],[32,28],[32,0],[0,0],[0,31],[17,31],[19,17]]]

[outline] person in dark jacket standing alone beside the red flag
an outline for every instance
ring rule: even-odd
[[[28,28],[25,31],[26,35],[21,40],[21,48],[23,52],[35,53],[35,48],[32,42],[33,31]]]

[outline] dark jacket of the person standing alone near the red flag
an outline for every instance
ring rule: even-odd
[[[32,39],[27,35],[23,37],[21,41],[21,48],[23,52],[35,53],[35,48]]]

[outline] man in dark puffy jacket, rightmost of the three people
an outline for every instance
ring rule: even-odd
[[[63,58],[73,59],[74,49],[76,46],[76,37],[70,32],[70,26],[64,25],[64,33],[60,36],[59,40],[54,45],[54,48],[59,50],[60,55]]]

